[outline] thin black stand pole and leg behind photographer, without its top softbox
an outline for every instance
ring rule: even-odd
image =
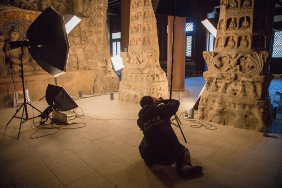
[[[172,27],[172,55],[171,55],[171,76],[170,76],[170,90],[169,90],[169,99],[171,99],[171,96],[172,96],[172,79],[173,79],[173,53],[174,53],[174,35],[175,35],[175,30],[174,30],[174,27],[175,27],[175,9],[176,9],[176,1],[174,1],[174,15],[173,15],[173,27]],[[173,123],[172,121],[176,120],[176,123]],[[178,116],[176,114],[174,114],[174,118],[170,120],[170,123],[172,125],[175,125],[177,126],[180,131],[181,131],[181,134],[185,140],[185,143],[187,143],[186,141],[186,138],[183,134],[183,131],[180,127],[180,125],[182,125],[182,123],[180,122]]]

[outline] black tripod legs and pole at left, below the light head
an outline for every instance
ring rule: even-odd
[[[19,139],[19,134],[21,133],[21,128],[22,128],[22,124],[25,123],[26,121],[30,120],[30,119],[34,119],[34,118],[37,118],[39,116],[36,116],[36,117],[32,117],[32,118],[29,118],[28,117],[28,110],[27,110],[27,105],[31,106],[32,108],[36,109],[38,112],[41,112],[40,110],[38,110],[37,108],[35,108],[34,106],[32,106],[30,104],[30,102],[28,102],[26,100],[26,92],[25,92],[25,82],[24,82],[24,65],[23,65],[23,55],[24,55],[24,46],[21,46],[21,56],[20,56],[20,60],[21,60],[21,79],[22,79],[22,85],[23,85],[23,95],[24,95],[24,102],[22,103],[22,105],[16,109],[16,112],[14,114],[14,116],[10,119],[10,121],[7,123],[7,126],[9,125],[9,123],[14,119],[14,118],[18,118],[18,119],[21,119],[21,123],[19,123],[19,130],[18,130],[18,135],[17,135],[17,139]],[[17,113],[21,110],[21,108],[23,107],[23,112],[22,112],[22,116],[21,117],[17,117]],[[24,117],[24,113],[25,113],[25,117]],[[43,114],[43,112],[41,112],[41,114]],[[48,117],[46,114],[43,114],[44,116]]]

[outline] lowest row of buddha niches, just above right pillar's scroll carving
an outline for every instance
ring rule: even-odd
[[[223,43],[224,42],[224,43]],[[249,48],[252,43],[252,48],[265,48],[265,36],[263,35],[255,35],[253,39],[250,39],[250,36],[235,36],[230,35],[227,36],[225,41],[223,41],[222,37],[218,37],[216,39],[215,48],[225,47],[229,49],[235,48]]]

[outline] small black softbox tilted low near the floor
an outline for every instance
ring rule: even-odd
[[[56,110],[67,111],[78,107],[63,87],[51,84],[46,89],[46,101]]]

